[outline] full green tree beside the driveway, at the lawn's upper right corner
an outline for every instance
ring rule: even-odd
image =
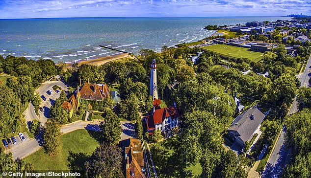
[[[122,133],[119,117],[110,109],[104,111],[105,122],[100,123],[104,141],[116,145]]]

